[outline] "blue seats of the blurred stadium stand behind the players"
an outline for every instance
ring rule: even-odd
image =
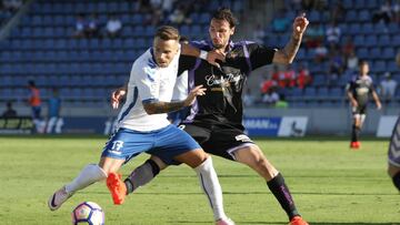
[[[51,88],[59,88],[63,102],[71,105],[104,105],[112,89],[121,85],[129,78],[134,59],[151,45],[154,25],[146,24],[151,17],[138,10],[139,1],[108,0],[36,0],[30,6],[20,23],[12,28],[11,34],[0,41],[0,101],[23,101],[27,80],[33,79],[41,89],[44,100]],[[221,6],[227,6],[237,14],[249,10],[244,0],[202,1],[200,11],[188,14],[192,23],[179,27],[182,35],[189,39],[203,39],[208,35],[209,13]],[[257,1],[250,1],[257,3]],[[277,1],[272,1],[277,2]],[[283,2],[283,1],[282,1]],[[289,3],[288,1],[284,1]],[[336,1],[326,1],[333,6]],[[394,57],[400,47],[399,24],[372,23],[372,13],[383,1],[344,0],[346,17],[339,22],[341,28],[340,44],[344,37],[352,37],[359,59],[370,62],[371,76],[376,84],[389,71],[400,84],[400,72]],[[273,4],[279,9],[281,4]],[[257,8],[257,6],[252,6]],[[329,8],[329,7],[328,7]],[[294,9],[286,12],[290,23],[294,19]],[[76,17],[80,13],[98,14],[99,25],[104,27],[108,16],[116,14],[123,28],[119,37],[73,38]],[[307,12],[311,22],[329,24],[328,10]],[[12,17],[10,12],[0,13],[0,23]],[[244,24],[247,25],[246,20]],[[291,32],[291,29],[288,29]],[[276,33],[267,27],[264,44],[282,48],[288,42],[290,32]],[[243,35],[243,34],[242,34]],[[251,38],[248,38],[251,39]],[[296,64],[306,64],[313,76],[313,83],[304,90],[284,90],[291,108],[338,108],[344,106],[344,85],[353,75],[344,71],[334,84],[327,84],[328,64],[312,61],[313,52],[301,47]],[[250,84],[254,85],[254,84]],[[396,94],[393,105],[398,105],[400,92]]]

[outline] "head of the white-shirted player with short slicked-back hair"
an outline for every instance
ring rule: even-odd
[[[152,48],[160,68],[167,68],[179,52],[179,31],[173,27],[162,25],[157,30]]]

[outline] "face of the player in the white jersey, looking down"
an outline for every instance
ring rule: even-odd
[[[162,40],[160,38],[156,38],[153,42],[153,52],[156,62],[160,68],[167,68],[174,55],[179,51],[179,42],[176,40]]]

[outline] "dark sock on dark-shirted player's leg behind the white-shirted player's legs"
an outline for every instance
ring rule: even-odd
[[[146,170],[146,167],[150,167],[151,171]],[[142,174],[137,174],[142,173]],[[127,186],[127,195],[129,193],[132,193],[134,190],[137,190],[139,186],[142,186],[150,182],[152,178],[157,176],[157,174],[160,173],[160,167],[157,165],[157,163],[152,160],[146,161],[142,165],[137,167],[126,180],[124,184]],[[138,181],[133,182],[134,178],[138,178]]]

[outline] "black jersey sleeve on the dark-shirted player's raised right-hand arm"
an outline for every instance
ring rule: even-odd
[[[271,64],[273,55],[277,52],[277,49],[267,48],[258,43],[250,43],[247,48],[250,55],[251,70]]]

